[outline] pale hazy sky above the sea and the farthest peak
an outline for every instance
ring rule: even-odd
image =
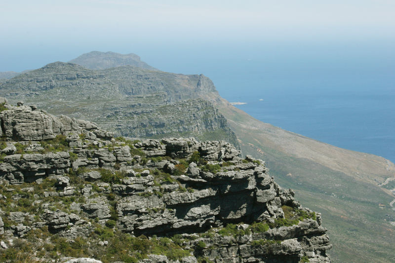
[[[0,71],[92,50],[144,58],[260,43],[388,46],[394,33],[394,0],[1,0]]]

